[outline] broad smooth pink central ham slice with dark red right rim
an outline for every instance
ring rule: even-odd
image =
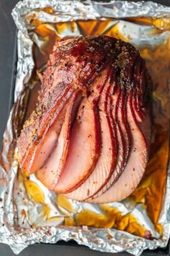
[[[94,92],[91,93],[89,98],[85,97],[81,103],[77,119],[72,128],[68,158],[63,168],[61,179],[55,186],[55,192],[71,192],[71,190],[79,187],[91,174],[91,171],[94,170],[99,150],[101,150],[101,128],[99,126],[99,118],[101,116],[96,105],[97,101],[99,101],[99,93],[104,88],[107,74],[108,70],[106,69],[103,75],[94,81]],[[70,176],[73,179],[70,179]]]

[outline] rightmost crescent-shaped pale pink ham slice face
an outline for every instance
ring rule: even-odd
[[[147,121],[148,116],[145,121],[143,121],[143,130],[146,129],[145,125]],[[135,113],[133,113],[133,110],[130,108],[130,101],[128,103],[128,122],[130,124],[130,131],[133,135],[133,145],[125,170],[112,187],[99,197],[89,199],[88,202],[105,203],[123,200],[133,192],[142,179],[148,161],[147,144],[143,132],[141,132],[140,127],[138,127]]]

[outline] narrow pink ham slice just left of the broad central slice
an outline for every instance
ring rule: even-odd
[[[80,101],[81,93],[73,93],[66,105],[66,114],[63,124],[61,124],[61,132],[58,136],[58,140],[55,140],[56,134],[53,130],[53,133],[51,132],[50,135],[50,141],[52,141],[52,136],[54,136],[53,141],[55,141],[55,145],[49,145],[50,143],[46,143],[42,146],[44,152],[50,152],[50,155],[48,154],[48,157],[45,157],[45,163],[42,164],[41,168],[37,169],[37,178],[40,179],[40,181],[49,189],[53,189],[53,187],[55,187],[55,184],[57,184],[58,178],[61,176],[63,171],[70,143],[71,125],[73,124]]]

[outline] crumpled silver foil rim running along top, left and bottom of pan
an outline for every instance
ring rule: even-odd
[[[4,133],[3,148],[6,152],[9,150],[14,140],[13,120],[16,117],[16,109],[22,101],[23,85],[30,78],[34,66],[32,59],[32,41],[27,35],[27,25],[24,23],[24,15],[31,12],[32,9],[42,7],[53,7],[58,13],[59,21],[68,20],[89,20],[102,17],[133,17],[135,16],[153,16],[162,17],[170,13],[169,7],[161,6],[153,2],[128,2],[128,1],[110,1],[102,4],[91,1],[57,1],[57,0],[24,0],[19,1],[12,12],[12,16],[19,30],[18,32],[18,62],[17,79],[15,84],[14,101]],[[81,12],[77,9],[81,8]],[[69,10],[69,12],[68,12]],[[45,17],[51,22],[56,22],[53,15]],[[19,98],[18,98],[19,95]],[[7,139],[7,140],[6,140]],[[7,161],[5,153],[1,155],[3,160]],[[168,170],[166,193],[164,205],[159,218],[159,223],[164,225],[164,236],[162,239],[143,239],[134,236],[125,231],[115,229],[84,229],[84,227],[38,227],[36,229],[14,229],[14,205],[12,204],[12,187],[17,174],[16,163],[12,164],[9,173],[6,173],[3,166],[0,166],[0,242],[9,244],[13,252],[18,254],[29,244],[50,243],[54,244],[59,240],[69,241],[74,239],[78,244],[84,244],[91,249],[102,252],[122,252],[127,251],[133,255],[141,255],[144,249],[156,249],[157,247],[166,247],[170,236],[169,208],[170,208],[170,168]],[[8,193],[6,193],[8,192]],[[8,195],[7,195],[8,194]],[[8,216],[5,215],[8,213]],[[5,224],[3,224],[5,223]],[[6,223],[8,225],[6,225]]]

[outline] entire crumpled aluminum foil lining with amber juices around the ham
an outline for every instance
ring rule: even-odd
[[[9,244],[16,254],[29,244],[69,239],[102,252],[133,255],[166,247],[170,235],[170,8],[151,1],[24,0],[12,16],[18,28],[18,61],[15,103],[1,153],[0,242]],[[17,162],[17,137],[28,109],[35,106],[33,98],[40,86],[35,69],[44,69],[52,41],[88,33],[122,38],[140,50],[154,83],[154,119],[159,131],[153,132],[153,149],[157,151],[138,188],[126,200],[105,205],[55,195],[35,175],[24,176]]]

